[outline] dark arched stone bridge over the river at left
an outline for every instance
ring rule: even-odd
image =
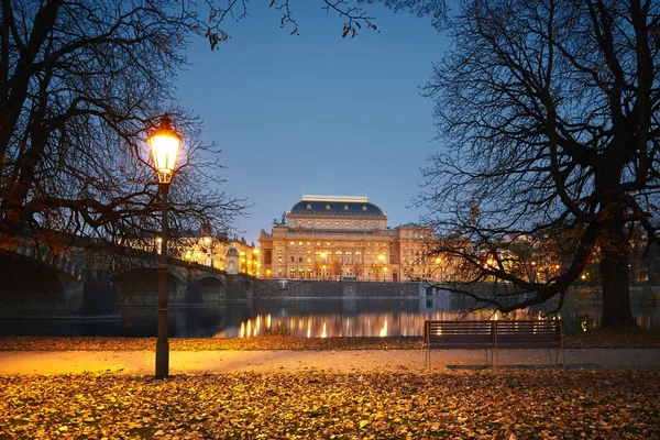
[[[0,317],[117,316],[157,306],[161,256],[78,240],[63,252],[25,244],[0,254]],[[170,306],[252,297],[254,278],[168,258]]]

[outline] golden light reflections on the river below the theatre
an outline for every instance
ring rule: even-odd
[[[263,301],[263,304],[261,304]],[[353,304],[358,301],[359,304]],[[417,302],[418,307],[414,307]],[[315,305],[310,309],[310,305]],[[261,307],[260,307],[261,306]],[[228,327],[217,332],[217,338],[251,338],[267,332],[290,333],[300,338],[331,337],[417,337],[421,336],[424,321],[457,319],[543,319],[542,310],[531,314],[518,310],[503,316],[493,310],[465,314],[449,298],[377,299],[283,299],[260,300],[255,309],[266,308],[246,317],[234,329]],[[389,309],[389,310],[371,310]],[[331,310],[331,312],[328,312]],[[548,309],[549,310],[549,309]],[[586,331],[598,326],[598,306],[564,306],[557,317],[564,320],[569,332]],[[635,308],[638,326],[646,329],[660,329],[660,310],[657,308]],[[549,319],[552,319],[551,316]],[[262,322],[266,322],[263,327]],[[235,331],[234,331],[235,330]]]

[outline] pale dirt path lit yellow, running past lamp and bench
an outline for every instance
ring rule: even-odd
[[[553,354],[552,354],[553,355]],[[660,370],[660,349],[571,349],[565,351],[568,369]],[[7,351],[0,352],[0,375],[113,372],[152,374],[154,352],[150,351]],[[172,351],[170,374],[202,372],[277,372],[323,370],[426,371],[417,350],[338,351]],[[561,361],[561,355],[560,355]],[[482,351],[433,351],[433,371],[480,367]],[[553,367],[547,350],[501,350],[501,369]]]

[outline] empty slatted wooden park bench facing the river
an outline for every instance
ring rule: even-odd
[[[431,370],[431,350],[485,350],[486,365],[499,365],[498,349],[556,349],[554,364],[559,351],[565,366],[562,322],[553,320],[514,321],[425,321],[422,350],[426,365]],[[491,362],[488,363],[488,351]],[[552,358],[550,355],[550,362]]]

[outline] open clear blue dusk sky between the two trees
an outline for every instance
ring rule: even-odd
[[[250,241],[314,195],[369,197],[388,224],[418,220],[433,141],[433,102],[419,96],[449,38],[429,18],[370,7],[380,33],[342,38],[343,21],[320,1],[292,2],[300,35],[276,10],[252,2],[215,52],[196,41],[178,80],[182,103],[201,117],[204,141],[222,150],[222,189],[254,204],[235,227]]]

